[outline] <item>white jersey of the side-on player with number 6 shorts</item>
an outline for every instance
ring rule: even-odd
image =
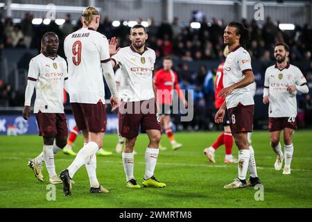
[[[238,83],[245,78],[244,72],[250,70],[252,71],[252,67],[248,51],[241,46],[237,46],[225,59],[223,65],[223,86],[229,87],[234,83]],[[226,96],[225,101],[227,109],[236,107],[239,103],[243,105],[254,104],[254,99],[252,94],[250,94],[248,86],[234,89],[232,93]]]

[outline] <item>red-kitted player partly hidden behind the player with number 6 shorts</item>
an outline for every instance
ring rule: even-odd
[[[223,55],[225,58],[227,57],[227,54],[229,53],[229,48],[225,46],[225,49],[223,51]],[[218,97],[218,93],[223,89],[223,65],[224,62],[221,62],[221,64],[218,66],[218,70],[216,72],[216,80],[214,83],[215,86],[215,105],[216,105],[216,110],[218,110],[221,105],[224,103],[225,99]],[[236,160],[233,155],[232,155],[232,147],[233,147],[233,137],[231,133],[231,129],[229,128],[229,117],[227,116],[227,112],[225,112],[225,116],[223,119],[223,128],[224,132],[221,133],[216,139],[216,142],[212,144],[210,147],[205,148],[204,153],[207,155],[207,158],[210,162],[215,163],[216,160],[214,160],[214,152],[219,146],[222,146],[225,144],[225,158],[224,162],[225,163],[237,163],[238,160]]]

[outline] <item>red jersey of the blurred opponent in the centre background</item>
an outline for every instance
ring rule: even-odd
[[[177,89],[180,97],[180,86],[175,71],[159,69],[154,75],[154,83],[157,89],[157,102],[159,104],[172,105],[173,89]]]

